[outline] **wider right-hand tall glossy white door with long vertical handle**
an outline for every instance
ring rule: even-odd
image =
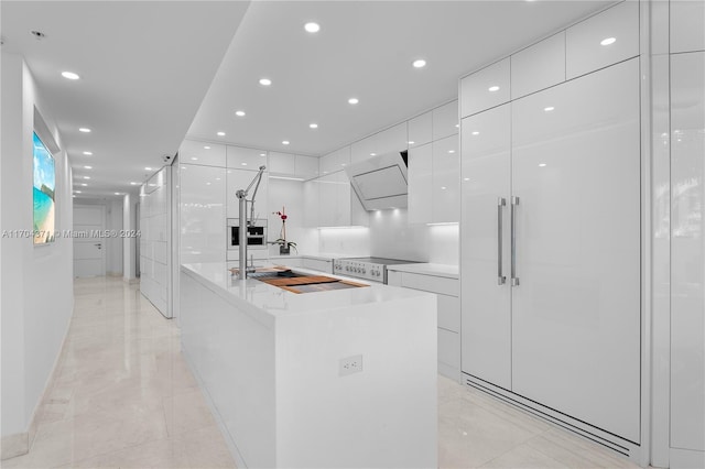
[[[513,101],[511,124],[512,391],[637,444],[639,117],[634,58]]]

